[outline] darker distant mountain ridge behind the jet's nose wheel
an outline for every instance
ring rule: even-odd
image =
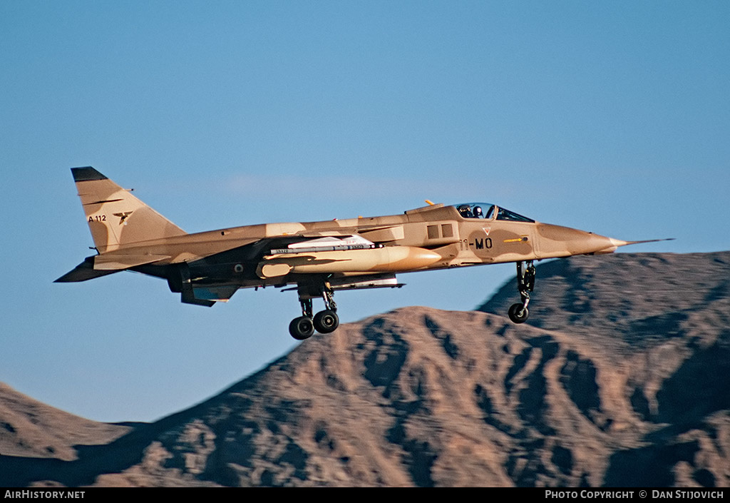
[[[692,312],[716,311],[712,303],[730,297],[730,252],[572,257],[541,263],[537,271],[530,325],[600,336],[619,351],[680,336]],[[504,314],[517,300],[510,281],[477,309]],[[707,319],[700,331],[713,326],[716,332],[727,325]]]

